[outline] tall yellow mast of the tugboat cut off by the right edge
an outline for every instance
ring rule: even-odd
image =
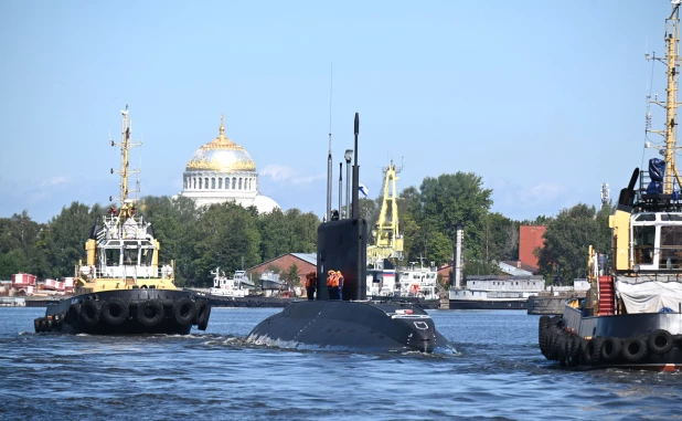
[[[682,0],[672,0],[672,13],[670,17],[665,19],[665,59],[657,57],[656,54],[649,57],[647,54],[647,60],[658,60],[661,63],[664,63],[668,66],[668,85],[665,91],[668,93],[668,97],[665,104],[654,99],[653,103],[660,105],[665,108],[665,130],[650,130],[651,133],[657,133],[665,137],[665,149],[664,149],[664,160],[665,160],[665,173],[663,178],[663,194],[672,194],[673,190],[673,181],[672,175],[674,171],[675,177],[678,178],[678,182],[680,183],[680,175],[678,173],[678,169],[675,168],[674,156],[678,149],[675,141],[675,116],[678,112],[678,65],[679,56],[680,56],[680,3]]]

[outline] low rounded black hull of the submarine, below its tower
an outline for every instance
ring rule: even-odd
[[[246,343],[311,350],[456,352],[419,307],[348,301],[294,302],[260,322]]]

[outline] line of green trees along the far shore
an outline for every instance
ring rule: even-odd
[[[405,249],[399,263],[451,263],[458,223],[465,233],[465,276],[495,274],[498,262],[516,260],[523,224],[547,225],[545,246],[536,252],[540,273],[548,281],[569,283],[584,276],[589,244],[610,252],[610,204],[597,211],[578,203],[553,218],[516,221],[491,212],[491,196],[480,176],[461,171],[426,177],[418,188],[403,189],[397,198]],[[370,231],[382,200],[360,199],[360,214]],[[84,242],[96,218],[108,208],[73,202],[46,223],[33,221],[25,211],[0,218],[0,280],[19,272],[45,278],[72,276],[75,264],[85,256]],[[285,253],[315,252],[321,222],[316,214],[298,209],[258,214],[255,207],[232,202],[196,208],[192,199],[182,196],[145,197],[138,212],[153,225],[161,244],[159,262],[174,260],[178,284],[194,286],[211,285],[215,266],[233,272]],[[286,278],[298,275],[295,267],[281,270]]]

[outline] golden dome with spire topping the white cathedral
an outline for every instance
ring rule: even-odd
[[[188,162],[188,171],[211,170],[221,172],[255,171],[256,165],[242,146],[225,136],[225,126],[221,116],[220,135],[196,149]]]

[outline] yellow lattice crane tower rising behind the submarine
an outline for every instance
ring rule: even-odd
[[[388,167],[383,168],[384,186],[383,201],[379,220],[372,229],[372,242],[367,245],[367,264],[374,265],[384,259],[403,259],[403,235],[398,231],[397,190],[395,182],[402,168],[396,168],[391,160]]]

